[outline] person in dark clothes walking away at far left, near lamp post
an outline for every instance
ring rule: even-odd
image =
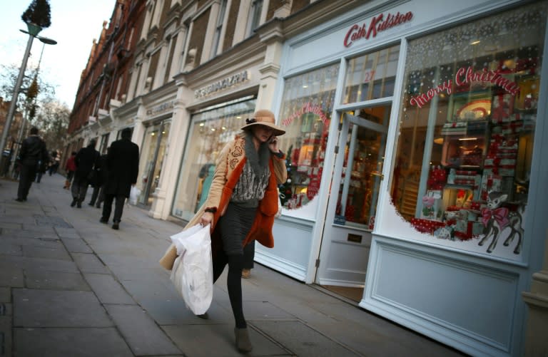
[[[38,128],[32,127],[29,138],[23,140],[19,157],[21,164],[16,201],[23,202],[26,201],[32,182],[36,178],[39,163],[49,160],[46,143],[38,136]]]

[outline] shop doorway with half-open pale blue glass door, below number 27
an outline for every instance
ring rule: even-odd
[[[375,227],[390,105],[342,113],[317,282],[360,301]],[[336,200],[335,200],[336,198]],[[345,294],[343,294],[345,295]]]

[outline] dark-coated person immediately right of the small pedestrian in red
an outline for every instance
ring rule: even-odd
[[[81,208],[82,202],[86,198],[90,173],[93,171],[93,168],[97,165],[99,160],[99,152],[95,150],[96,143],[96,140],[91,140],[86,148],[81,148],[78,151],[76,158],[74,159],[74,163],[76,164],[76,172],[74,172],[74,180],[71,188],[71,207],[77,205],[78,208]]]

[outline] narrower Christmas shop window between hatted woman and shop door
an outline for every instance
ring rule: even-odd
[[[280,148],[286,153],[288,181],[280,186],[283,206],[295,209],[318,194],[333,111],[339,66],[327,66],[285,80]]]

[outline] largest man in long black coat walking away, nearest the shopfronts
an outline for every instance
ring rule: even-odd
[[[131,129],[122,130],[122,138],[111,144],[106,155],[108,179],[104,187],[105,202],[101,223],[108,223],[111,217],[112,202],[116,198],[112,228],[118,229],[122,218],[123,203],[129,197],[131,185],[137,183],[139,171],[139,147],[131,142]]]

